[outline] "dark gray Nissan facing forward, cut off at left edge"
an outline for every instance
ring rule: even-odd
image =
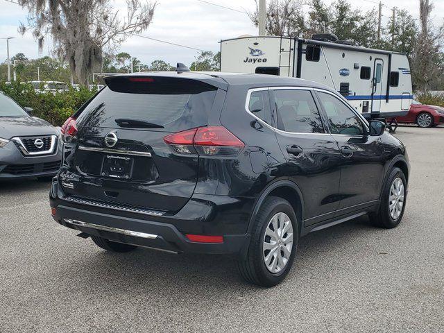
[[[60,131],[30,111],[0,92],[0,180],[51,178],[60,167]]]

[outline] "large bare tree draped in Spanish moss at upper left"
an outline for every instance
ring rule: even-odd
[[[111,0],[19,0],[29,11],[28,24],[42,49],[51,35],[55,53],[69,63],[79,83],[89,84],[93,71],[101,69],[104,48],[115,49],[134,33],[151,24],[156,3],[126,0],[127,16],[121,19]],[[25,33],[26,26],[20,31]]]

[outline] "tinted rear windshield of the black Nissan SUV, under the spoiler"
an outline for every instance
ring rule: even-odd
[[[168,131],[207,124],[216,87],[176,78],[113,78],[78,116],[79,126],[119,128],[116,119],[135,119]]]

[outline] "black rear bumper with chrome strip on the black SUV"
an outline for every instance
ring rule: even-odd
[[[55,178],[50,193],[51,207],[56,208],[53,219],[89,235],[173,253],[244,254],[249,245],[250,198],[191,198],[177,214],[151,216],[72,203],[61,199],[60,192]],[[225,204],[214,203],[217,200]],[[221,235],[223,243],[197,243],[185,234]]]

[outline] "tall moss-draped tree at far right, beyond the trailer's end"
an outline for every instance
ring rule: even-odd
[[[444,26],[434,28],[430,19],[432,10],[433,4],[429,0],[420,0],[420,33],[412,59],[413,79],[425,93],[441,74],[436,67],[441,60],[439,50],[443,46]]]

